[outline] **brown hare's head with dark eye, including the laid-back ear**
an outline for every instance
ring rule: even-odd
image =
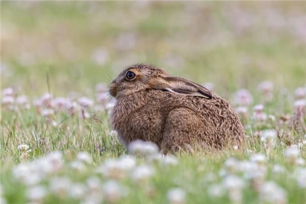
[[[146,89],[159,89],[176,94],[212,98],[211,92],[188,80],[170,77],[163,69],[137,64],[124,69],[111,83],[110,93],[118,98]]]

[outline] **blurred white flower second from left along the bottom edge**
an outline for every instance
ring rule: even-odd
[[[54,194],[56,194],[59,197],[65,197],[68,192],[71,185],[70,180],[67,177],[54,177],[50,181],[50,190]]]

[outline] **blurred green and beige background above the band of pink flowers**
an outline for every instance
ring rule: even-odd
[[[91,94],[154,64],[220,95],[306,83],[305,2],[1,2],[2,87]],[[208,83],[210,82],[210,83]],[[207,84],[208,83],[208,84]]]

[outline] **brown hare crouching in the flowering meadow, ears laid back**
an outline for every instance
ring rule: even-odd
[[[140,139],[162,150],[222,149],[244,141],[244,129],[226,100],[165,70],[137,64],[110,85],[111,123],[127,146]]]

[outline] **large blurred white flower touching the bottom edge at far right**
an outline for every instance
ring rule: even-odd
[[[274,182],[266,182],[260,189],[260,199],[264,202],[284,204],[286,203],[286,191]]]

